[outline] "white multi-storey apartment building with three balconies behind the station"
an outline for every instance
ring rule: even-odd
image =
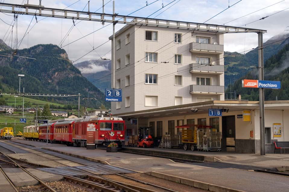
[[[224,100],[223,33],[126,25],[115,42],[122,102],[111,102],[112,114]]]

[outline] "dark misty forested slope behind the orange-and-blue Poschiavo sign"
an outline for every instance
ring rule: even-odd
[[[252,69],[239,78],[232,85],[232,91],[236,90],[237,94],[242,94],[242,99],[259,101],[259,89],[242,88],[242,79],[258,79],[258,69]],[[289,100],[289,44],[267,59],[264,64],[264,79],[281,81],[281,89],[264,89],[265,100],[276,100],[276,97],[278,100]]]

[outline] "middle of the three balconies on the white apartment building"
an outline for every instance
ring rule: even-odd
[[[206,65],[206,64],[199,64],[199,63],[191,63],[190,73],[223,74],[224,65]]]

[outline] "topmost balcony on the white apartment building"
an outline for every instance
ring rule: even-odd
[[[222,54],[224,52],[224,45],[192,42],[190,43],[190,52]]]

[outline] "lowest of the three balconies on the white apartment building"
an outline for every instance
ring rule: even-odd
[[[218,85],[190,85],[190,94],[224,94],[224,86]]]

